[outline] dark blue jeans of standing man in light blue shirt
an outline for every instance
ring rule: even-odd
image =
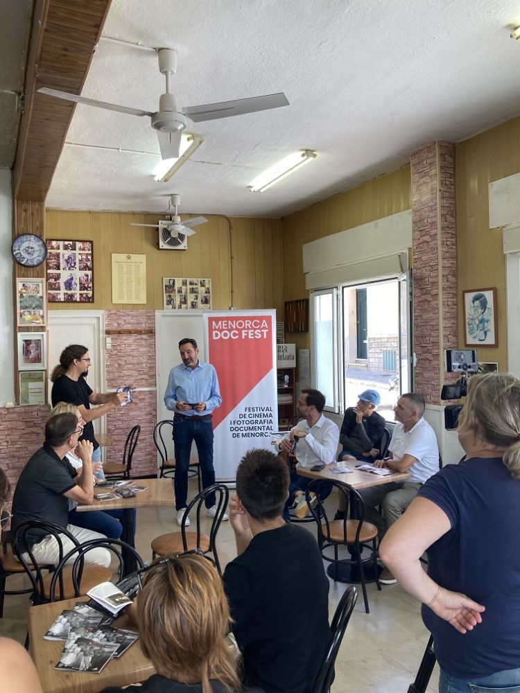
[[[191,444],[195,441],[198,452],[198,464],[202,475],[202,488],[207,489],[215,483],[213,467],[213,421],[199,419],[196,416],[184,419],[175,416],[173,419],[173,445],[175,447],[175,507],[177,510],[187,506],[188,468]],[[215,494],[206,498],[206,507],[215,505]]]

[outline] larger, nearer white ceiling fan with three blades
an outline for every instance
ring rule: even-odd
[[[187,125],[187,119],[194,123],[211,121],[229,116],[240,116],[245,113],[266,111],[270,108],[287,106],[288,100],[282,92],[279,94],[266,94],[265,96],[252,96],[251,98],[238,98],[232,101],[220,101],[220,103],[205,103],[200,106],[177,108],[177,100],[170,91],[171,77],[177,69],[177,53],[173,49],[158,49],[159,71],[166,77],[166,93],[159,98],[159,110],[157,113],[141,111],[137,108],[119,106],[106,101],[98,101],[94,98],[67,94],[65,91],[40,87],[40,94],[63,98],[67,101],[76,101],[87,106],[105,108],[109,111],[126,113],[131,116],[148,116],[151,119],[152,128],[157,130],[159,148],[163,159],[177,159],[180,153],[181,133]]]

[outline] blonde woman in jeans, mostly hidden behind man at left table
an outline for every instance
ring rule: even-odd
[[[49,414],[49,419],[56,416],[56,414],[74,414],[78,418],[78,424],[80,426],[85,425],[85,420],[81,416],[80,410],[74,404],[59,402]],[[71,450],[65,457],[80,474],[83,462],[76,455],[76,450]],[[100,468],[103,468],[101,462],[92,462],[94,473]],[[96,480],[94,480],[95,482]],[[76,501],[69,499],[69,525],[90,529],[92,532],[99,532],[99,534],[104,534],[109,539],[121,538],[121,534],[123,534],[123,525],[121,523],[124,518],[124,510],[89,510],[88,512],[78,513],[76,510],[77,505]],[[134,510],[134,527],[135,513],[136,511]]]

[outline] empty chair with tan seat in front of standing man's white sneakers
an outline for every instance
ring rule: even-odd
[[[200,531],[200,513],[202,510],[205,510],[205,500],[210,493],[216,494],[216,515],[211,520],[211,529],[209,530],[209,535],[207,535],[202,534]],[[202,493],[196,495],[184,513],[180,532],[161,534],[161,536],[157,536],[153,540],[153,559],[155,559],[156,556],[171,556],[182,554],[193,549],[200,549],[203,553],[211,552],[213,554],[216,568],[218,572],[222,574],[216,550],[216,534],[218,532],[218,527],[220,527],[222,516],[226,511],[228,498],[229,491],[224,484],[208,486]],[[193,509],[195,509],[196,514],[196,532],[187,532],[186,520]],[[193,520],[193,516],[191,520]]]

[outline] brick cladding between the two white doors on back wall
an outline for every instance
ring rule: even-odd
[[[107,310],[106,329],[155,328],[153,310]],[[132,476],[155,474],[157,451],[153,444],[153,427],[157,421],[155,388],[155,334],[110,335],[112,348],[107,350],[107,387],[121,385],[135,388],[134,401],[107,415],[107,433],[112,445],[107,448],[109,462],[121,462],[126,437],[139,424],[141,433],[132,459]]]

